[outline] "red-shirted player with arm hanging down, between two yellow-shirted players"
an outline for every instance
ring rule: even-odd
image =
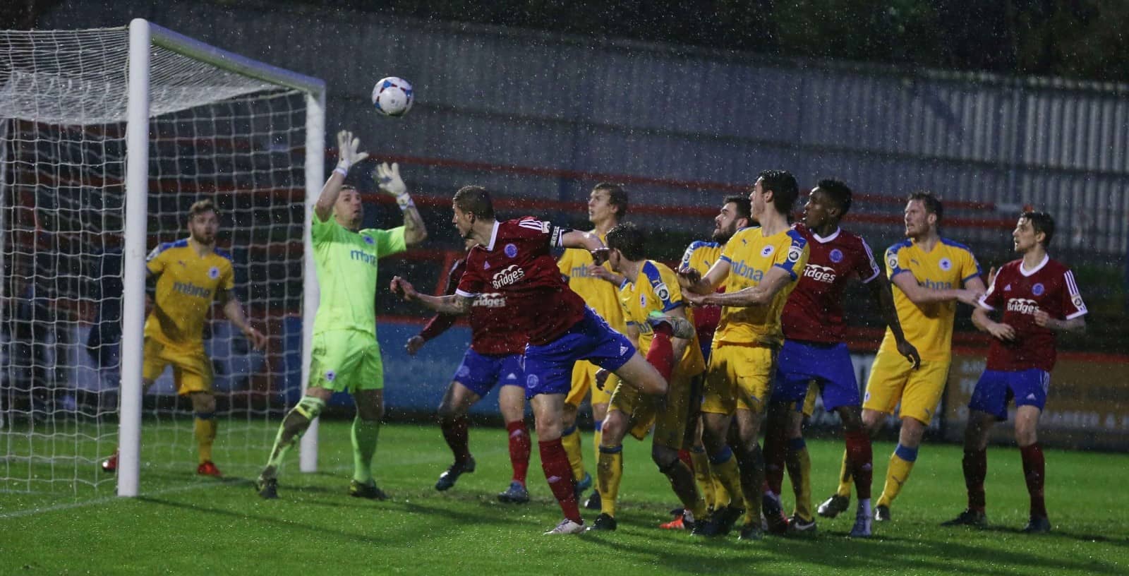
[[[796,289],[781,314],[785,343],[777,363],[765,431],[764,453],[769,489],[765,518],[770,530],[791,533],[815,531],[808,472],[811,460],[804,443],[804,401],[814,383],[826,411],[843,422],[848,471],[858,489],[858,514],[852,536],[870,535],[870,437],[863,425],[861,398],[855,367],[847,349],[843,293],[852,278],[865,283],[898,341],[898,350],[916,366],[920,357],[905,341],[890,281],[860,236],[839,227],[851,207],[851,190],[837,180],[821,180],[804,204],[804,220],[794,228],[807,239],[811,254]],[[779,492],[787,463],[796,492],[796,512],[780,522]]]

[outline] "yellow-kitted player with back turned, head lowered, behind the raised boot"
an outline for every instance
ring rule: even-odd
[[[645,395],[639,389],[619,384],[612,392],[603,422],[597,486],[601,514],[588,530],[615,530],[615,504],[623,475],[623,438],[630,433],[644,439],[651,425],[655,438],[650,457],[682,501],[688,520],[706,516],[706,500],[694,485],[694,473],[679,460],[686,436],[693,381],[706,370],[693,324],[674,271],[646,259],[642,230],[620,224],[607,233],[612,270],[623,274],[620,303],[628,338],[668,382],[665,399]],[[601,370],[601,375],[606,370]],[[601,376],[597,376],[599,383]],[[599,383],[602,384],[602,383]],[[597,387],[599,387],[597,384]]]

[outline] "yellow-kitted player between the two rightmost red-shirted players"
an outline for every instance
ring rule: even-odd
[[[887,328],[870,367],[863,398],[863,424],[873,436],[887,414],[899,409],[902,427],[898,447],[890,456],[886,483],[875,503],[875,522],[890,521],[890,505],[909,479],[918,446],[933,420],[952,361],[953,320],[956,303],[975,306],[984,293],[980,264],[963,244],[937,233],[943,206],[928,192],[910,194],[905,204],[905,239],[886,248],[886,274],[893,285],[894,306],[905,340],[917,348],[920,368],[914,369],[898,351]],[[839,474],[839,489],[820,505],[821,516],[834,517],[850,504],[851,477]]]

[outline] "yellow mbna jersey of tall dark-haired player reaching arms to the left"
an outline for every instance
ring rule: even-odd
[[[791,281],[772,297],[768,306],[725,306],[721,321],[714,334],[717,343],[782,346],[780,313],[788,295],[796,288],[797,272],[807,265],[809,248],[798,232],[786,229],[763,236],[761,228],[742,228],[729,238],[721,252],[721,260],[729,263],[725,291],[735,293],[760,286],[764,273],[772,267],[784,269]]]

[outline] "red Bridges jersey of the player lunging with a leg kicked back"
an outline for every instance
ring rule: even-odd
[[[568,229],[530,216],[495,222],[490,243],[467,254],[455,294],[499,294],[506,299],[502,326],[511,339],[526,334],[534,346],[557,340],[584,318],[585,309],[549,252]]]

